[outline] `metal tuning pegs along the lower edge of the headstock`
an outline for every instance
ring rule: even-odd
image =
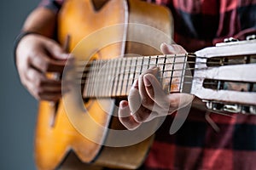
[[[207,103],[207,109],[220,113],[241,113],[247,115],[256,115],[256,105],[240,105],[221,103],[218,101],[203,100]]]

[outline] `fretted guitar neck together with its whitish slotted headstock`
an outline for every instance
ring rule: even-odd
[[[255,45],[255,42],[241,42],[233,46],[206,48],[196,52],[196,55],[156,55],[89,61],[85,67],[81,67],[83,97],[126,97],[133,82],[143,71],[157,66],[157,77],[166,94],[194,94],[207,102],[210,110],[226,110],[230,105],[238,105],[237,108],[249,108],[246,112],[254,114]],[[239,51],[240,48],[247,50]],[[233,53],[230,54],[230,50]]]

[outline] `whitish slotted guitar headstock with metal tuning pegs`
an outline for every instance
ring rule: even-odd
[[[191,94],[218,112],[256,115],[256,40],[197,51]]]

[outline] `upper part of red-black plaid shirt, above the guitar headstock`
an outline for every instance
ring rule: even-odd
[[[171,8],[174,40],[189,52],[256,33],[256,0],[150,0]]]

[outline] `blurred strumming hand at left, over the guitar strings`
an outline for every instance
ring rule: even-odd
[[[36,99],[60,99],[61,80],[47,77],[47,74],[61,75],[67,58],[68,54],[57,42],[37,34],[26,35],[16,49],[20,81]]]

